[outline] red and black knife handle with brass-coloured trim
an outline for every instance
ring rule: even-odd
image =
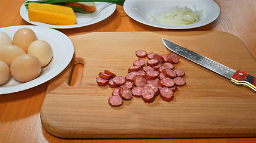
[[[256,78],[243,71],[237,70],[231,78],[234,85],[243,85],[256,92]]]

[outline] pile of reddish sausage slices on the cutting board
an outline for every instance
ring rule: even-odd
[[[123,100],[131,100],[132,97],[141,97],[144,102],[150,103],[160,94],[162,100],[173,100],[173,92],[177,86],[185,85],[185,72],[174,69],[173,64],[179,63],[176,54],[158,55],[146,51],[136,51],[138,60],[129,67],[125,77],[116,76],[109,70],[99,73],[96,81],[99,86],[115,88],[109,98],[109,105],[119,107]],[[147,61],[146,58],[148,59]]]

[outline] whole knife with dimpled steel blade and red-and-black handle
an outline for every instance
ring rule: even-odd
[[[189,49],[183,48],[182,46],[177,45],[176,43],[170,42],[162,38],[162,42],[167,49],[173,51],[174,53],[193,61],[200,66],[205,67],[215,73],[220,74],[221,76],[226,77],[231,80],[231,83],[234,85],[242,85],[256,92],[256,78],[247,74],[241,70],[233,70],[227,66],[217,63],[216,61],[210,60],[210,58],[204,57],[196,52],[190,51]]]

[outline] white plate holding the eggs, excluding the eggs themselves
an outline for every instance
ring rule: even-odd
[[[11,77],[7,83],[0,85],[0,95],[23,91],[47,82],[68,66],[74,54],[74,46],[70,38],[55,29],[41,26],[10,26],[0,28],[0,31],[13,38],[14,33],[22,27],[32,29],[37,35],[37,39],[48,42],[52,46],[53,58],[46,67],[42,68],[40,76],[34,80],[21,83]]]

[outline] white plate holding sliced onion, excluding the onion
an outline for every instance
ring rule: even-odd
[[[166,26],[150,21],[150,14],[162,13],[170,10],[173,7],[188,7],[194,11],[195,8],[203,10],[203,17],[198,23],[182,25],[182,26]],[[204,26],[216,20],[219,16],[219,5],[212,0],[126,0],[124,3],[124,10],[129,17],[134,20],[153,27],[162,29],[191,29],[195,27]]]

